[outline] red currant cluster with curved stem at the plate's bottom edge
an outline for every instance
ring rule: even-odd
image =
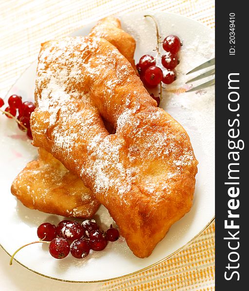
[[[107,242],[115,242],[119,238],[119,231],[110,225],[106,232],[101,231],[94,219],[87,219],[82,224],[71,220],[63,220],[57,226],[43,223],[37,228],[36,242],[49,243],[49,252],[55,259],[63,259],[71,253],[74,258],[82,259],[88,256],[90,249],[102,251]],[[28,243],[27,246],[32,243]],[[12,256],[10,264],[20,247]]]

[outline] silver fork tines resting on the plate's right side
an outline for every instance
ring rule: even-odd
[[[213,58],[212,60],[209,60],[201,65],[198,65],[196,68],[194,68],[193,70],[191,70],[190,72],[188,72],[186,75],[189,75],[189,74],[192,74],[196,71],[199,71],[199,70],[202,70],[204,68],[207,68],[207,67],[210,67],[210,66],[213,66],[215,65],[215,58]],[[203,79],[203,78],[206,78],[206,77],[209,77],[209,76],[212,76],[212,75],[215,75],[215,68],[213,67],[213,69],[201,74],[201,75],[198,75],[197,77],[189,80],[186,82],[187,83],[190,83],[190,82],[194,82],[194,81],[197,81],[197,80],[200,80],[200,79]],[[196,90],[200,90],[200,89],[204,89],[206,87],[210,87],[210,86],[213,86],[215,84],[215,78],[213,78],[212,80],[210,81],[207,81],[205,83],[202,83],[194,88],[191,88],[189,89],[188,91],[186,92],[192,92],[192,91],[196,91]]]

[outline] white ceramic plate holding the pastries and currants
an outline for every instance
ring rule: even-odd
[[[137,41],[136,62],[143,54],[155,54],[155,26],[150,18],[143,17],[144,14],[137,12],[120,16],[125,31],[131,33]],[[47,244],[34,244],[16,255],[17,261],[33,272],[58,280],[77,282],[107,280],[133,274],[169,258],[196,237],[213,219],[214,88],[193,93],[172,93],[176,88],[187,88],[186,72],[213,57],[213,31],[183,16],[155,12],[151,14],[158,20],[162,37],[176,34],[183,41],[179,53],[180,64],[176,69],[178,80],[167,87],[160,106],[187,130],[199,161],[193,207],[171,227],[149,258],[135,257],[122,238],[108,243],[104,251],[92,252],[86,259],[81,260],[71,256],[62,260],[53,259]],[[85,26],[73,35],[87,35],[94,24]],[[25,100],[33,100],[35,71],[36,63],[24,72],[8,96],[18,94]],[[47,221],[56,224],[62,217],[27,209],[11,194],[13,179],[27,162],[36,157],[36,148],[17,128],[16,123],[3,115],[0,115],[0,156],[0,244],[6,252],[13,254],[19,246],[36,240],[36,228],[39,224]],[[104,207],[98,210],[97,215],[105,229],[113,222]]]

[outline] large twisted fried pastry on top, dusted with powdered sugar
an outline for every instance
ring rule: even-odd
[[[81,177],[133,253],[149,256],[192,206],[197,161],[186,131],[157,108],[130,63],[101,38],[43,44],[35,97],[34,145]]]

